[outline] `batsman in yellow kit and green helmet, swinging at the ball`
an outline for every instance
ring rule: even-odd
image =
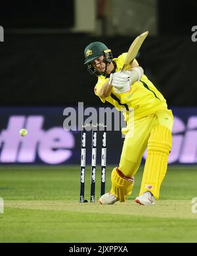
[[[85,65],[92,75],[98,77],[95,94],[103,103],[110,102],[117,110],[126,108],[128,112],[120,164],[112,170],[110,193],[102,195],[99,203],[112,205],[116,201],[126,201],[132,193],[135,174],[147,149],[141,191],[135,201],[140,205],[155,205],[167,172],[173,113],[167,109],[164,96],[144,75],[136,59],[129,70],[121,71],[126,57],[127,53],[123,53],[113,58],[112,51],[101,42],[93,42],[85,48]],[[131,109],[134,110],[133,120],[129,119]],[[133,135],[130,136],[133,126]]]

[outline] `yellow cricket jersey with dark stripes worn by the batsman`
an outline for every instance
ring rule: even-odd
[[[125,59],[127,53],[121,54],[118,58],[113,59],[116,63],[116,72],[119,72]],[[136,61],[136,60],[135,60]],[[100,76],[95,86],[95,94],[99,96],[99,90],[102,86],[108,82],[108,78]],[[158,110],[167,110],[167,104],[164,96],[156,89],[154,84],[148,80],[146,75],[142,76],[142,79],[139,82],[135,82],[131,85],[131,90],[129,92],[117,94],[112,89],[112,94],[107,98],[100,98],[102,102],[110,102],[114,107],[121,111],[122,108],[127,110],[125,115],[125,121],[128,121],[129,110],[134,110],[134,119],[140,119],[156,113]]]

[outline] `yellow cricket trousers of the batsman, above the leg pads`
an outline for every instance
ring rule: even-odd
[[[132,129],[133,125],[133,129]],[[152,115],[138,119],[127,125],[119,170],[126,177],[134,177],[141,165],[142,156],[148,146],[150,133],[158,125],[173,129],[173,114],[171,110],[160,110]],[[132,133],[132,134],[131,134]]]

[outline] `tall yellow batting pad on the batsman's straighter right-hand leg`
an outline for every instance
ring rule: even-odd
[[[142,177],[141,192],[150,191],[156,199],[160,197],[160,187],[167,172],[167,160],[172,146],[171,131],[165,126],[157,126],[148,140],[148,154]]]

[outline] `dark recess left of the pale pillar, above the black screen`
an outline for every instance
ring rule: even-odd
[[[71,27],[74,24],[74,1],[2,1],[0,24],[4,28]]]

